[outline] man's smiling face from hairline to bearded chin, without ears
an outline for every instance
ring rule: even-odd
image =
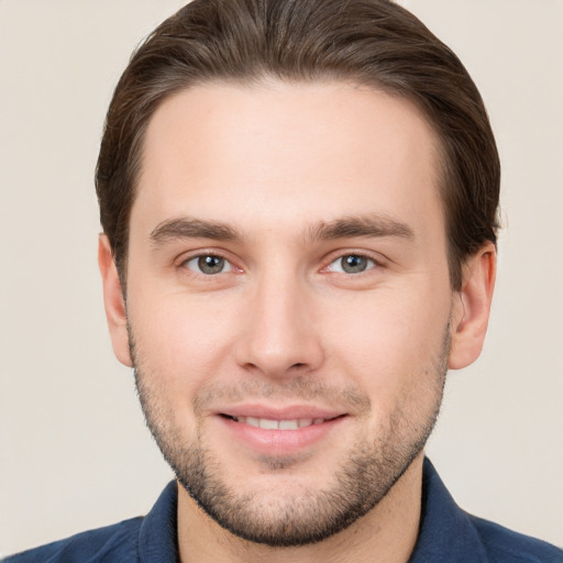
[[[438,181],[419,111],[346,84],[202,86],[152,118],[132,362],[165,457],[233,533],[327,538],[419,456],[457,322]]]

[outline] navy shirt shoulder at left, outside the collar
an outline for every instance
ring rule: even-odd
[[[2,563],[129,563],[137,561],[142,517],[78,533],[15,555]]]

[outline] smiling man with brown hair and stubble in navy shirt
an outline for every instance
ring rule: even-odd
[[[471,78],[388,1],[163,23],[108,113],[99,263],[178,485],[9,561],[561,561],[423,457],[483,345],[498,186]]]

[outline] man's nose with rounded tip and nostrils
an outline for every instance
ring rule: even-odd
[[[256,283],[240,319],[234,354],[241,367],[288,378],[321,366],[324,353],[313,296],[305,285],[290,276],[263,276]]]

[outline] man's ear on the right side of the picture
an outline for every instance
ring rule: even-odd
[[[462,288],[454,294],[450,369],[468,366],[483,350],[495,288],[496,264],[495,245],[488,243],[463,266]]]

